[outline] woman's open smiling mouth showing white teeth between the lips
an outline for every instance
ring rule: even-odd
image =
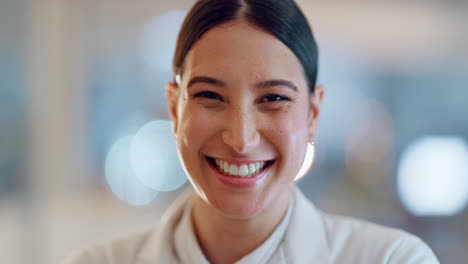
[[[251,162],[229,162],[226,160],[206,157],[208,162],[219,172],[233,177],[254,177],[270,167],[274,160],[251,161]]]

